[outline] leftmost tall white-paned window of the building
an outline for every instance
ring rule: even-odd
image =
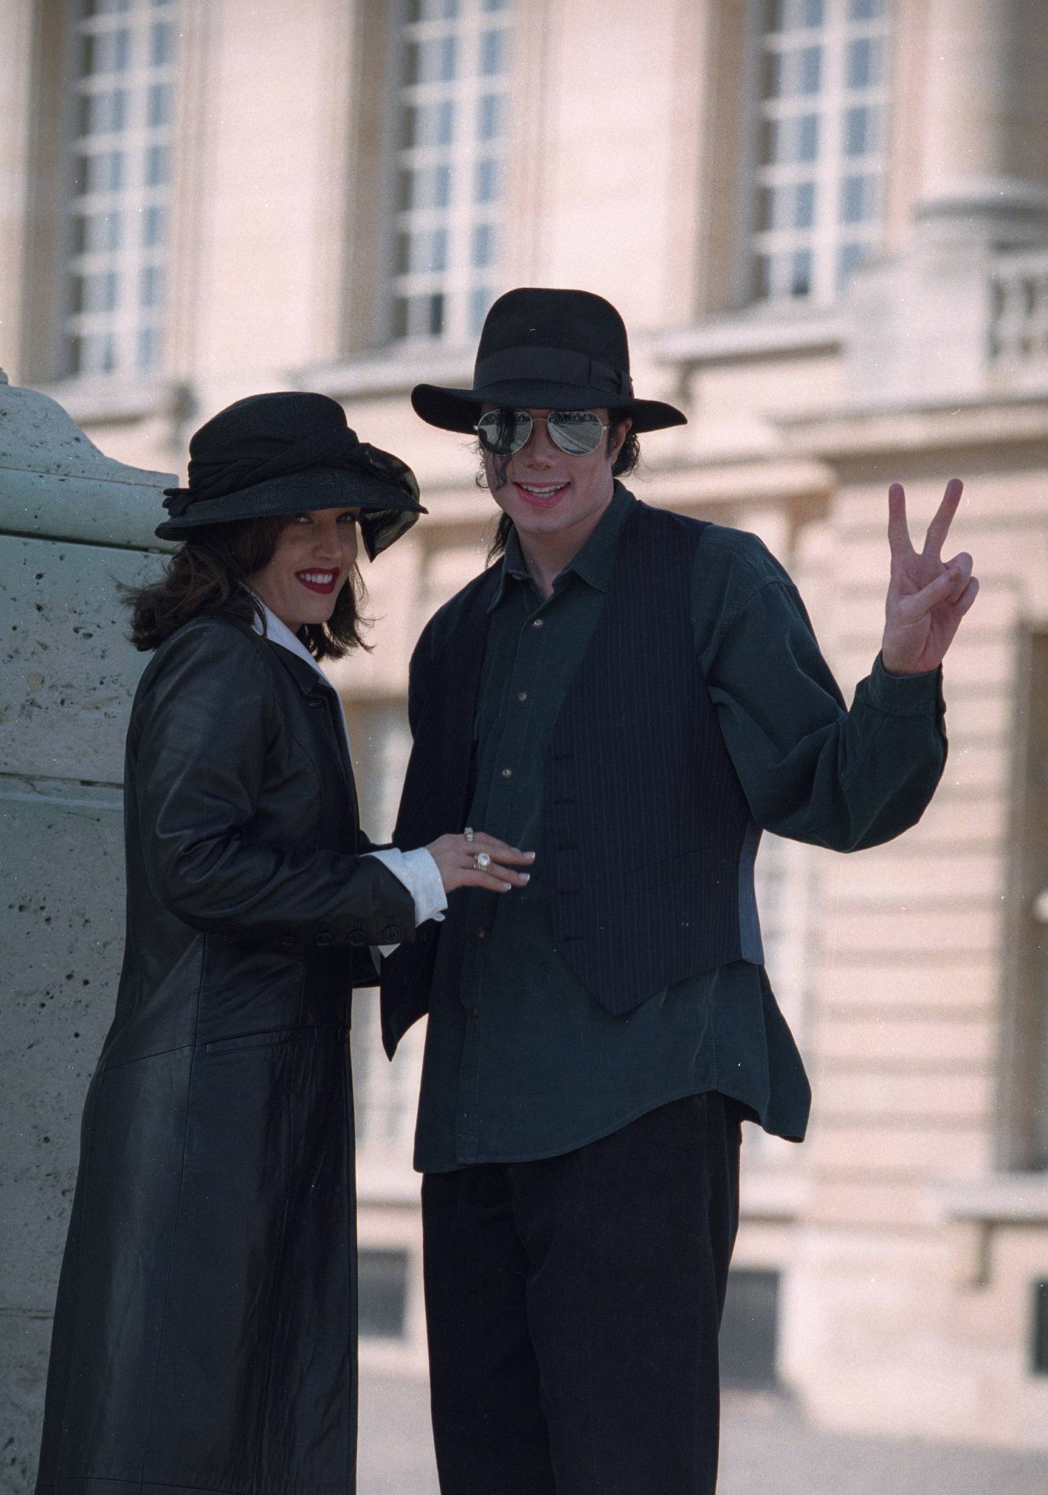
[[[139,374],[163,356],[176,0],[79,0],[66,366]]]

